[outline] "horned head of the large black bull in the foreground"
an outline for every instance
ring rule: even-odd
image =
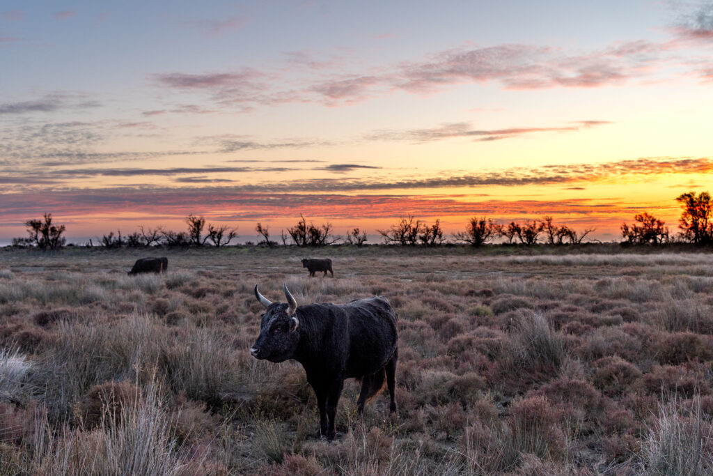
[[[284,284],[287,304],[272,303],[265,298],[255,285],[255,297],[265,306],[265,314],[260,321],[260,335],[250,348],[250,355],[270,362],[283,362],[292,358],[299,342],[299,319],[297,319],[297,301]]]

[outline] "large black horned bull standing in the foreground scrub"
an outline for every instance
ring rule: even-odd
[[[267,309],[260,322],[260,336],[250,349],[257,359],[302,364],[307,382],[317,395],[319,432],[333,440],[337,435],[334,417],[345,378],[361,379],[356,407],[361,415],[364,402],[384,388],[391,395],[391,412],[396,411],[396,360],[399,358],[396,311],[381,296],[353,300],[347,304],[297,302],[284,285],[287,304],[272,303],[255,286],[255,297]]]

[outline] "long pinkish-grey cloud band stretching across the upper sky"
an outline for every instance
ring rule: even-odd
[[[288,64],[317,74],[284,84],[284,70],[257,69],[208,74],[159,74],[163,86],[205,91],[222,106],[279,105],[318,101],[327,106],[356,103],[393,91],[431,93],[459,84],[500,83],[507,89],[596,88],[644,78],[662,62],[667,46],[647,41],[613,44],[603,49],[571,52],[557,46],[503,44],[439,51],[426,59],[403,61],[390,68],[359,74],[341,71],[347,61],[319,61],[304,51],[287,55]],[[302,70],[301,70],[302,71]]]

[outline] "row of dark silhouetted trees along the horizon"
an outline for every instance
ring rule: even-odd
[[[679,218],[679,233],[673,235],[664,221],[652,216],[650,213],[642,212],[634,216],[634,223],[622,223],[620,231],[623,243],[627,244],[653,244],[662,243],[713,243],[713,201],[708,192],[682,193],[676,198],[682,206],[683,211]],[[342,238],[334,234],[332,223],[314,225],[307,223],[304,215],[300,214],[296,225],[287,228],[287,231],[280,231],[280,240],[283,246],[324,246],[339,243],[340,241],[348,245],[362,246],[366,243],[366,231],[354,228]],[[138,248],[155,245],[165,246],[205,246],[216,247],[225,246],[237,238],[237,229],[222,225],[217,226],[206,223],[202,216],[193,214],[185,218],[188,226],[186,231],[170,231],[162,227],[144,228],[139,227],[128,236],[122,236],[118,231],[114,235],[113,231],[99,239],[101,246],[105,248]],[[26,238],[14,238],[12,244],[16,246],[34,246],[36,248],[56,250],[61,248],[66,239],[63,238],[65,226],[58,226],[52,223],[52,214],[45,213],[43,219],[29,220],[25,222],[28,236]],[[207,227],[207,228],[206,228]],[[258,245],[266,245],[273,248],[279,243],[270,238],[270,229],[257,223],[255,231],[262,237]],[[446,238],[446,234],[441,227],[441,221],[436,219],[434,223],[426,223],[414,216],[408,215],[399,218],[398,223],[391,225],[386,230],[376,230],[385,244],[404,246],[437,246],[444,243],[468,243],[473,246],[481,246],[486,243],[501,239],[508,244],[534,245],[535,243],[545,243],[549,245],[578,245],[583,243],[585,238],[595,231],[595,228],[585,228],[576,231],[566,225],[557,225],[551,216],[542,219],[525,220],[522,223],[511,221],[510,223],[498,223],[491,218],[473,217],[468,220],[466,229],[458,231],[451,236],[453,241]],[[252,244],[250,242],[246,244]]]

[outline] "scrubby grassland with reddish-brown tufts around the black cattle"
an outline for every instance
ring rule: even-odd
[[[129,277],[167,255],[165,275]],[[329,256],[335,278],[300,258]],[[314,437],[262,307],[384,295],[399,414]],[[616,246],[0,250],[0,474],[713,472],[713,254]]]

